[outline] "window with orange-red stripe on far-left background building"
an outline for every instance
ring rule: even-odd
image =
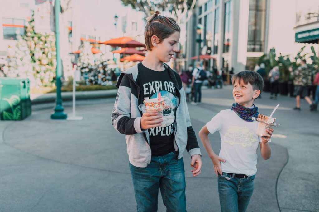
[[[24,19],[3,18],[3,38],[16,40],[17,35],[24,35]]]

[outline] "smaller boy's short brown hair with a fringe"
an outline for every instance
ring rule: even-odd
[[[243,81],[243,83],[245,85],[247,85],[248,83],[251,84],[253,86],[254,90],[260,90],[260,92],[263,91],[263,87],[265,85],[265,83],[263,82],[263,78],[261,77],[260,74],[258,74],[255,71],[241,71],[237,74],[234,74],[232,76],[232,83],[234,85],[234,83],[236,81],[241,82],[241,80]]]

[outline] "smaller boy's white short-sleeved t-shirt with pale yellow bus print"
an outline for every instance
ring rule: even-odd
[[[258,122],[247,122],[241,119],[234,110],[221,110],[206,124],[208,131],[213,134],[219,131],[221,149],[219,157],[221,169],[226,173],[256,174],[258,141],[256,135]],[[271,141],[269,141],[271,142]]]

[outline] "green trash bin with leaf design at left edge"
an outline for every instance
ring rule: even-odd
[[[30,80],[0,78],[0,119],[23,120],[30,115]]]

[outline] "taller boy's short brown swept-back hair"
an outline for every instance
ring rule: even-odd
[[[163,42],[174,32],[181,32],[181,28],[173,18],[160,15],[156,11],[151,17],[147,18],[147,23],[144,30],[145,45],[148,51],[152,51],[152,36],[156,35],[159,38],[158,43]]]

